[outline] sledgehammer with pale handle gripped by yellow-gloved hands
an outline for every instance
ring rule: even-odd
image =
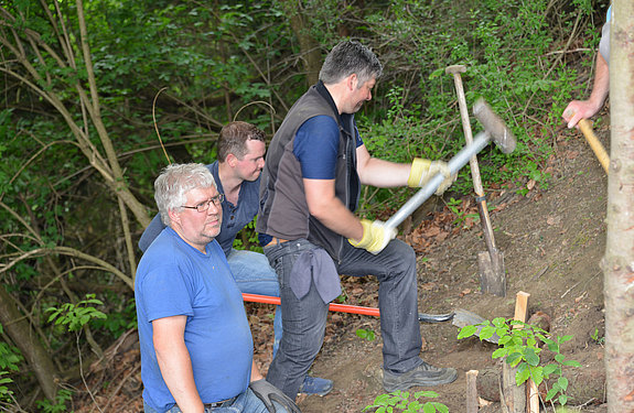
[[[469,163],[471,156],[482,151],[491,140],[493,140],[503,153],[511,153],[515,150],[515,137],[506,128],[506,124],[495,115],[493,109],[484,101],[479,99],[473,106],[473,113],[484,126],[484,132],[480,132],[471,144],[464,146],[455,154],[449,162],[448,167],[451,174],[456,174],[460,169]],[[386,222],[387,227],[398,227],[407,217],[409,217],[416,208],[425,203],[442,184],[444,176],[438,174],[427,185],[418,189],[418,192],[409,198],[404,206],[400,207]]]

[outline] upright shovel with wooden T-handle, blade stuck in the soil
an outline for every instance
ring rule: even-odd
[[[466,72],[466,67],[463,65],[454,65],[447,67],[444,72],[447,74],[453,75],[455,91],[458,94],[458,106],[460,107],[460,117],[462,119],[464,140],[468,144],[471,144],[473,142],[473,135],[471,132],[471,123],[469,121],[469,109],[466,108],[464,88],[462,87],[462,78],[460,77],[461,73]],[[492,293],[498,296],[506,296],[504,254],[495,247],[493,227],[491,226],[488,208],[486,207],[486,197],[482,187],[482,180],[480,178],[477,156],[473,155],[469,161],[469,164],[471,166],[471,177],[473,180],[473,189],[475,192],[475,203],[477,204],[480,221],[482,222],[482,232],[484,235],[484,242],[486,243],[487,249],[487,251],[477,253],[481,290],[483,293]]]

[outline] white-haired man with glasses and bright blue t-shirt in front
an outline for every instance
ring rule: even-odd
[[[146,413],[299,412],[254,362],[241,294],[215,240],[223,195],[211,172],[170,165],[154,198],[166,228],[135,280]]]

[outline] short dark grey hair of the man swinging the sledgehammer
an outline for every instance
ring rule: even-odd
[[[352,74],[358,77],[358,87],[372,78],[378,79],[383,66],[376,55],[355,41],[341,42],[327,54],[319,78],[326,85],[336,84]]]

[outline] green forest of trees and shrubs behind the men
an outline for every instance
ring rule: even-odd
[[[232,120],[269,139],[343,39],[384,64],[357,115],[372,154],[449,160],[464,145],[450,65],[518,139],[481,152],[487,191],[546,187],[561,111],[588,96],[608,1],[0,0],[0,402],[64,411],[135,328],[137,241],[170,162],[211,163]],[[481,127],[473,120],[472,128]],[[162,138],[166,153],[160,145]],[[463,169],[445,196],[470,193]],[[364,188],[362,216],[412,189]],[[237,248],[258,250],[252,228]],[[57,410],[56,410],[57,409]]]

